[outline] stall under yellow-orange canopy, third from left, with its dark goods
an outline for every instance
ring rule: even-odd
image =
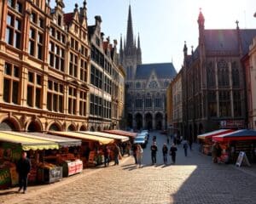
[[[102,162],[102,154],[100,150],[104,144],[113,144],[114,140],[104,138],[96,135],[78,132],[61,132],[61,131],[50,131],[50,134],[59,135],[67,138],[81,139],[81,160],[83,161],[84,167],[95,166]]]

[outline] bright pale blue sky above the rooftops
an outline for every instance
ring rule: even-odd
[[[74,4],[83,6],[83,0],[63,1],[64,11],[72,12]],[[129,3],[134,34],[139,32],[143,63],[171,62],[177,71],[183,64],[183,44],[189,52],[198,42],[197,18],[199,8],[205,16],[206,29],[256,28],[255,0],[87,0],[88,24],[94,16],[102,16],[105,37],[120,39],[126,35]],[[51,7],[55,1],[51,1]]]

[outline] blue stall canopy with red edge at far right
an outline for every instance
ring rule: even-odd
[[[255,130],[248,130],[248,129],[241,129],[236,130],[232,133],[224,133],[218,136],[212,137],[213,141],[217,142],[230,142],[230,141],[237,141],[237,140],[256,140],[256,131]]]

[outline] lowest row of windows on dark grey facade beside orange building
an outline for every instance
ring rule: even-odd
[[[90,94],[90,115],[111,118],[111,102]]]

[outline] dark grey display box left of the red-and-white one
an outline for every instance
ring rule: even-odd
[[[38,168],[38,182],[54,183],[61,180],[62,167],[39,167]]]

